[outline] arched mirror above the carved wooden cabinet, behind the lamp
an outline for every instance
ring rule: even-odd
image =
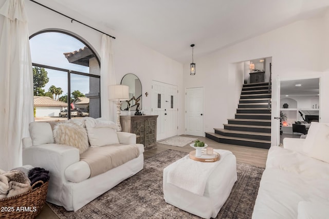
[[[122,77],[121,85],[129,87],[129,100],[123,101],[121,110],[142,109],[142,84],[135,74],[126,74]]]

